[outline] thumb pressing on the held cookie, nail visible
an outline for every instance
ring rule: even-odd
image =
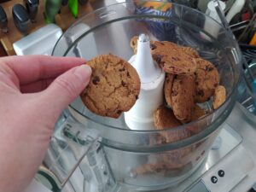
[[[79,96],[90,81],[91,68],[81,65],[61,74],[45,90],[45,101],[55,113],[67,107],[70,102]]]

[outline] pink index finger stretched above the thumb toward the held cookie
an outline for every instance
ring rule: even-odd
[[[46,55],[9,56],[1,60],[12,68],[21,85],[55,78],[68,69],[85,63],[82,58]]]

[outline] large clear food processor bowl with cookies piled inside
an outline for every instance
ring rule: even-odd
[[[88,177],[89,172],[101,175],[101,179],[108,175],[106,180],[97,177],[94,186],[101,187],[91,191],[108,191],[106,186],[110,181],[119,188],[136,190],[166,189],[180,183],[206,159],[236,102],[237,84],[241,78],[241,52],[233,35],[216,20],[176,3],[135,1],[97,9],[84,15],[63,33],[52,55],[90,60],[96,55],[112,53],[128,61],[134,55],[130,40],[141,33],[147,34],[151,40],[172,41],[195,48],[202,58],[217,67],[220,84],[226,89],[226,101],[217,110],[212,109],[211,102],[201,104],[210,112],[189,124],[162,131],[132,131],[125,124],[124,115],[119,119],[98,116],[85,108],[78,97],[63,113],[76,126],[69,123],[61,131],[55,131],[55,138],[61,143],[83,146],[86,141],[81,139],[82,136],[74,139],[73,130],[79,129],[79,134],[96,132],[97,147],[90,148],[89,154],[96,153],[95,157],[99,159],[97,155],[103,151],[101,162],[91,166],[91,156],[86,152],[83,160],[74,155],[79,164],[73,164],[86,167],[82,168],[81,175],[87,186],[93,181],[93,177]],[[190,137],[185,137],[183,133],[186,131],[192,133]],[[160,141],[163,134],[180,137],[172,142]],[[74,148],[68,155],[81,150]],[[102,173],[101,168],[96,171],[96,165],[107,166],[108,173]]]

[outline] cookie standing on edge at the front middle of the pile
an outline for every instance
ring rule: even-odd
[[[177,119],[186,123],[195,108],[195,75],[177,75],[172,84],[172,110]]]

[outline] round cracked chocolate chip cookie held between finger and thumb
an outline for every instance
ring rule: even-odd
[[[140,79],[130,63],[116,55],[99,55],[88,61],[92,69],[90,83],[81,93],[91,112],[118,118],[137,101]]]

